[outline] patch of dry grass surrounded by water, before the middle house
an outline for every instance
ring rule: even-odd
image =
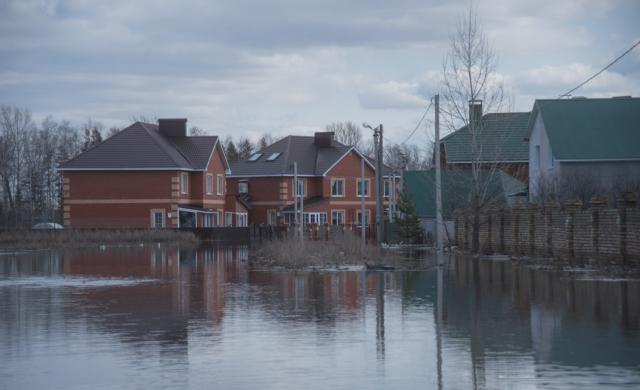
[[[250,261],[259,267],[300,269],[362,265],[365,262],[397,266],[402,260],[396,253],[379,251],[372,244],[365,246],[363,256],[360,244],[360,238],[349,233],[334,235],[329,241],[273,240],[256,248]]]

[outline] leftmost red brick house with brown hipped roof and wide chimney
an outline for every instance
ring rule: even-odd
[[[189,137],[186,122],[136,122],[62,164],[65,227],[246,225],[218,137]]]

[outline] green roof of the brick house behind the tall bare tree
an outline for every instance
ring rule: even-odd
[[[481,162],[529,161],[529,112],[485,114],[478,133],[478,149]],[[468,126],[442,139],[447,161],[471,162],[471,133]]]

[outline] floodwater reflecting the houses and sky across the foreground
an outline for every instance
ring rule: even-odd
[[[464,257],[264,271],[248,253],[0,255],[0,388],[640,387],[637,281]]]

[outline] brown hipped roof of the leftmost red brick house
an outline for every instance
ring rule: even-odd
[[[203,170],[216,136],[167,137],[158,126],[136,122],[61,164],[62,170]]]

